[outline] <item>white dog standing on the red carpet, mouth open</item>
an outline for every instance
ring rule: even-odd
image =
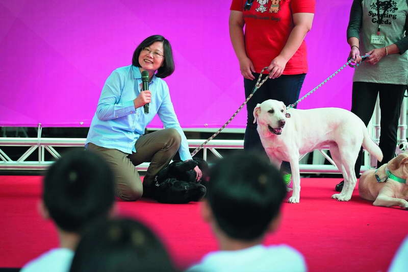
[[[284,103],[267,100],[257,105],[253,116],[271,162],[276,166],[280,166],[282,161],[290,162],[293,193],[289,203],[299,203],[299,158],[304,154],[329,146],[331,158],[344,178],[343,190],[331,196],[339,201],[351,198],[357,182],[354,164],[362,145],[379,161],[382,160],[382,152],[370,138],[364,122],[347,110],[290,109],[287,113]]]

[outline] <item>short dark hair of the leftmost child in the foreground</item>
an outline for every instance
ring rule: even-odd
[[[91,151],[71,150],[47,170],[42,197],[60,229],[81,232],[90,221],[108,216],[114,190],[114,177],[104,159]]]

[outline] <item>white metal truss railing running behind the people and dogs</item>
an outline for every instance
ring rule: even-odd
[[[398,146],[396,153],[399,154],[404,152],[408,146],[406,141],[406,98],[402,103],[401,116],[399,119],[398,127]],[[369,132],[373,139],[379,141],[379,118],[380,118],[379,102],[377,100],[377,105],[373,114],[373,118],[368,126]],[[188,144],[191,149],[195,149],[200,146],[204,140],[188,140]],[[45,154],[49,153],[54,159],[60,158],[59,152],[57,152],[57,147],[74,147],[74,146],[84,146],[84,138],[43,138],[41,137],[41,126],[38,127],[37,138],[17,138],[17,137],[0,137],[0,170],[45,170],[50,164],[53,163],[52,160],[45,161]],[[12,160],[10,156],[2,150],[3,146],[25,146],[28,150],[25,151],[17,160]],[[203,147],[203,159],[207,160],[208,151],[214,154],[218,158],[222,158],[219,153],[222,149],[243,149],[243,140],[211,140],[207,145]],[[310,174],[340,174],[335,163],[326,154],[323,148],[319,150],[321,155],[327,159],[330,164],[300,164],[301,173]],[[27,161],[30,155],[38,153],[38,160]],[[361,171],[365,171],[369,168],[375,167],[376,160],[372,158],[367,152],[364,152],[365,164],[362,166]],[[49,157],[49,156],[48,156]],[[142,163],[137,166],[138,170],[145,171],[148,167],[148,163]]]

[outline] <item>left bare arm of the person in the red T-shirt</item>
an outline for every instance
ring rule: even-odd
[[[235,55],[237,55],[242,76],[246,79],[254,80],[252,72],[255,72],[252,61],[245,52],[244,41],[244,17],[241,11],[232,10],[230,12],[230,38],[233,44]]]

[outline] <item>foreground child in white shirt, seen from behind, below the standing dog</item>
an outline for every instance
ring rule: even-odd
[[[302,255],[288,245],[263,245],[274,232],[286,196],[285,183],[269,161],[251,153],[220,160],[211,170],[202,216],[219,251],[207,254],[195,271],[305,271]]]

